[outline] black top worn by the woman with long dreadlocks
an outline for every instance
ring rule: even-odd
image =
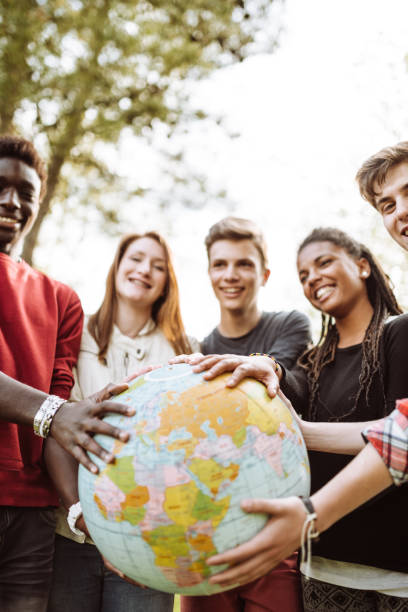
[[[382,336],[384,405],[379,375],[373,380],[368,402],[363,392],[351,411],[361,370],[361,344],[337,349],[335,359],[321,372],[315,421],[368,421],[394,409],[396,399],[408,395],[408,315],[390,320]],[[298,412],[308,415],[308,390],[304,371],[285,371],[282,391]],[[320,489],[353,457],[311,451],[312,492]],[[313,543],[313,554],[408,573],[408,486],[392,486],[341,519]]]

